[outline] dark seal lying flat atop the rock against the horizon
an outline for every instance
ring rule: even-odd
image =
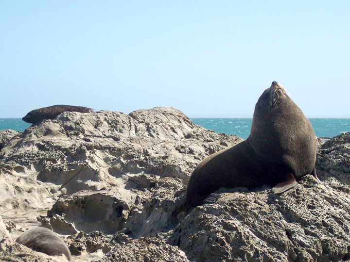
[[[49,107],[43,107],[39,109],[32,110],[22,119],[27,123],[37,123],[44,119],[55,119],[57,115],[62,114],[63,112],[80,112],[80,113],[91,113],[95,110],[84,107],[84,106],[70,106],[70,105],[54,105]]]

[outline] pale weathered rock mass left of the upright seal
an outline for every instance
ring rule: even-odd
[[[40,222],[68,236],[86,260],[96,259],[107,244],[92,252],[80,232],[121,231],[138,239],[173,229],[192,169],[240,141],[171,108],[65,112],[4,144],[0,212],[16,223],[15,237]]]

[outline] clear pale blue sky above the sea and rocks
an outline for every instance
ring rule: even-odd
[[[54,104],[251,117],[280,82],[350,117],[350,1],[0,1],[0,117]]]

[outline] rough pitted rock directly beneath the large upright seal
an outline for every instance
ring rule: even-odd
[[[192,210],[170,239],[191,261],[350,259],[350,197],[311,175],[281,195],[233,189]]]

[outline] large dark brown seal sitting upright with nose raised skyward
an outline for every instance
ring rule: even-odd
[[[256,103],[249,137],[210,155],[193,170],[187,201],[200,205],[220,187],[268,184],[282,193],[304,175],[317,178],[316,149],[310,121],[274,81]]]

